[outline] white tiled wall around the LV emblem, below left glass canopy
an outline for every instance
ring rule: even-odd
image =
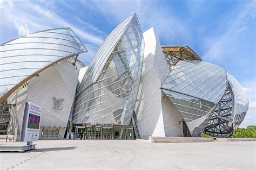
[[[17,122],[13,124],[18,126],[18,134],[21,132],[25,102],[31,101],[43,107],[41,128],[61,127],[60,135],[64,136],[79,74],[79,65],[77,64],[76,69],[72,66],[72,62],[73,59],[63,60],[56,66],[45,69],[38,77],[33,77],[27,87],[18,88],[8,97],[8,103],[16,103],[14,112]],[[59,109],[63,108],[62,110],[53,109],[55,105],[52,97],[64,99],[59,107]]]

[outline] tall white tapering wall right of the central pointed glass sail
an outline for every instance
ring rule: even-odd
[[[183,136],[182,120],[178,110],[168,97],[164,97],[161,84],[170,73],[158,37],[153,28],[143,33],[143,74],[134,109],[137,115],[140,138],[149,136]]]

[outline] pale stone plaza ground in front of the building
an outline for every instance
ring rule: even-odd
[[[1,152],[1,169],[255,169],[255,141],[146,143],[43,140],[36,150]]]

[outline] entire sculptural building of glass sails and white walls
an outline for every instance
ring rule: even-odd
[[[43,107],[42,139],[230,137],[248,99],[225,68],[188,46],[161,46],[136,14],[104,40],[89,66],[69,28],[0,46],[0,133],[21,132],[26,101]],[[83,134],[82,134],[83,133]]]

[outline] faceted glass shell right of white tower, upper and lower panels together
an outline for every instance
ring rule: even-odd
[[[200,60],[179,60],[161,86],[180,112],[192,137],[199,137],[225,94],[223,67]]]

